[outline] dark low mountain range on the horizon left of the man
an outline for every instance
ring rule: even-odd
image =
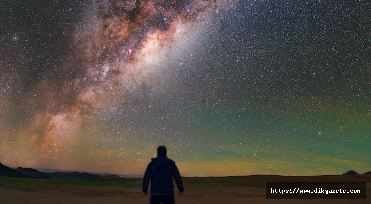
[[[41,172],[32,168],[10,168],[0,163],[0,176],[22,177],[31,179],[97,179],[97,178],[119,178],[119,177],[143,177],[141,175],[124,175],[110,173],[88,173],[82,171],[60,171],[55,169],[41,169]]]

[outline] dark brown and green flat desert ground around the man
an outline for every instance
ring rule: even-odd
[[[0,203],[148,203],[142,179],[41,180],[0,177]],[[266,182],[366,182],[366,199],[267,199]],[[184,177],[177,204],[371,203],[371,175]]]

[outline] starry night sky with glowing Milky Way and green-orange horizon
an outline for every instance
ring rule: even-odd
[[[368,1],[0,3],[0,162],[182,176],[371,170]]]

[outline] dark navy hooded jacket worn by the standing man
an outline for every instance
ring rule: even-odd
[[[142,190],[147,192],[151,179],[151,195],[173,195],[173,179],[180,192],[184,191],[183,182],[175,162],[166,156],[152,158],[143,177]]]

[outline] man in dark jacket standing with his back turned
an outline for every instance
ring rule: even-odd
[[[173,179],[179,189],[179,196],[183,195],[184,187],[175,162],[166,156],[166,147],[157,148],[157,157],[152,158],[144,173],[142,190],[148,195],[148,183],[151,179],[150,204],[175,204]]]

